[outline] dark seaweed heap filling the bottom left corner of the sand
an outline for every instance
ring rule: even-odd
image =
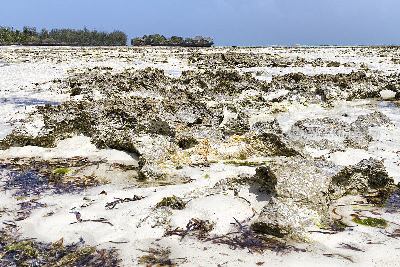
[[[11,228],[0,230],[1,266],[117,266],[122,260],[114,249],[96,250],[81,242],[63,245],[21,239]]]

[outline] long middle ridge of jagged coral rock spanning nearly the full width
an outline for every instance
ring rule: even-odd
[[[55,147],[62,139],[86,134],[98,147],[137,153],[141,175],[159,179],[167,175],[163,164],[198,164],[212,157],[307,156],[305,146],[332,151],[367,149],[372,140],[369,129],[378,125],[377,118],[383,126],[391,123],[381,113],[359,117],[352,124],[306,119],[297,121],[291,133],[285,134],[277,120],[250,127],[245,114],[222,125],[221,109],[196,101],[141,97],[69,101],[38,107],[1,140],[0,147]]]

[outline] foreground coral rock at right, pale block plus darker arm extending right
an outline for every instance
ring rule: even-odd
[[[328,222],[331,199],[393,184],[376,159],[339,167],[294,157],[258,167],[254,180],[271,192],[271,199],[252,226],[268,234],[299,240],[307,239],[308,230]]]

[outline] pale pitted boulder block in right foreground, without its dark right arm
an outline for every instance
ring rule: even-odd
[[[257,230],[303,239],[312,225],[328,221],[330,177],[306,159],[260,166],[255,180],[272,192],[269,203],[253,224]]]

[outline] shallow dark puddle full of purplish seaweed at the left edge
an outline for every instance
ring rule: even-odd
[[[74,157],[50,162],[37,158],[7,158],[0,160],[0,188],[14,190],[14,196],[40,196],[83,191],[87,187],[107,184],[92,175],[82,175],[85,167],[96,166],[104,160],[90,161]]]

